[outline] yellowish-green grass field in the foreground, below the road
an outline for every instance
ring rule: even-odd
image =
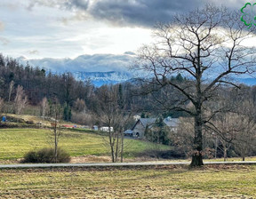
[[[255,198],[255,176],[255,165],[2,170],[0,197]]]

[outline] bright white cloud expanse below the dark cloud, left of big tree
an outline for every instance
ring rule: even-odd
[[[135,51],[140,44],[150,40],[150,29],[113,27],[92,18],[68,20],[64,24],[61,19],[74,18],[76,13],[72,9],[60,9],[57,3],[61,1],[35,1],[33,5],[28,1],[22,4],[14,1],[12,5],[17,3],[15,9],[6,0],[0,7],[0,21],[4,24],[1,40],[5,41],[0,45],[0,51],[6,55],[39,59],[75,58],[80,54],[94,53],[120,54]],[[62,1],[63,4],[65,2],[68,4],[70,1]],[[79,4],[79,1],[72,3]],[[28,5],[31,5],[29,11]],[[30,53],[31,49],[40,53]]]

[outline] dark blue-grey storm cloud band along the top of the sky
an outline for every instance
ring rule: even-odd
[[[188,12],[204,4],[224,5],[239,10],[243,0],[31,0],[36,4],[55,6],[61,9],[91,15],[96,20],[106,20],[118,26],[153,27],[156,22],[167,22],[177,12]],[[77,18],[85,20],[86,18]]]

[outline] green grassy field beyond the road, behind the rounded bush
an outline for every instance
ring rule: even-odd
[[[0,129],[0,160],[17,159],[29,150],[52,146],[48,129]],[[109,155],[108,139],[84,131],[63,131],[60,137],[60,147],[66,149],[71,156],[79,155]],[[148,142],[125,139],[124,156],[134,155],[152,149],[155,145]],[[169,147],[161,146],[162,149]]]

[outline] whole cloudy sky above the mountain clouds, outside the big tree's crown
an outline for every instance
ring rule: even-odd
[[[136,52],[157,21],[206,2],[240,9],[250,0],[1,0],[0,52],[28,59]]]

